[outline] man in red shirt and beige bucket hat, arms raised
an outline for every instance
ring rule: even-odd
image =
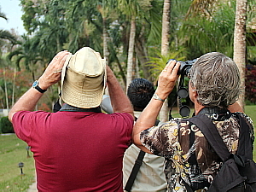
[[[10,110],[17,137],[33,152],[38,191],[123,191],[122,160],[131,142],[133,110],[99,53],[61,51]],[[61,80],[57,113],[33,111]],[[113,112],[99,108],[106,83]]]

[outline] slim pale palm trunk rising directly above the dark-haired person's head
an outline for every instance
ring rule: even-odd
[[[126,90],[131,84],[132,80],[132,61],[133,61],[133,52],[134,52],[134,43],[135,43],[135,34],[136,34],[136,21],[135,16],[131,17],[131,31],[130,31],[130,38],[129,38],[129,48],[128,48],[128,59],[127,59],[127,77],[126,77]]]

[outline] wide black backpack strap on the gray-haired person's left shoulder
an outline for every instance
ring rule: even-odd
[[[216,126],[213,125],[211,119],[204,114],[198,114],[189,119],[189,121],[197,125],[221,160],[225,161],[230,158],[230,151],[226,147],[222,138],[219,136]]]

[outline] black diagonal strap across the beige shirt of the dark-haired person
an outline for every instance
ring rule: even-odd
[[[139,171],[140,167],[143,165],[144,155],[145,155],[145,152],[140,150],[140,153],[137,156],[137,160],[135,160],[135,164],[131,170],[131,175],[128,178],[128,181],[125,185],[126,191],[131,191],[131,187],[135,181],[135,178],[137,177],[137,172]]]

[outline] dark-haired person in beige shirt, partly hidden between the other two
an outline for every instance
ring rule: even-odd
[[[128,86],[127,96],[131,101],[136,119],[146,108],[153,95],[154,85],[147,79],[133,79],[131,81]],[[156,119],[154,121],[156,125],[159,123]],[[145,154],[140,148],[131,144],[125,151],[123,161],[123,184],[125,190],[132,192],[166,192],[164,160],[163,157],[154,154]],[[138,161],[141,162],[140,167],[137,166]]]

